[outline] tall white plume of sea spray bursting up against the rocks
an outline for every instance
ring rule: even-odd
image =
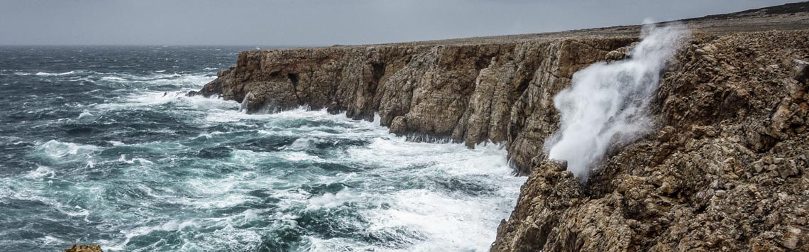
[[[553,99],[560,128],[545,147],[549,158],[566,160],[576,177],[587,180],[610,147],[630,143],[652,128],[647,111],[660,74],[690,32],[681,24],[647,24],[641,37],[629,58],[579,70],[570,87]]]

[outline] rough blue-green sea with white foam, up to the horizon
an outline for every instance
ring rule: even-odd
[[[0,247],[481,251],[522,177],[493,145],[186,97],[231,47],[0,47]]]

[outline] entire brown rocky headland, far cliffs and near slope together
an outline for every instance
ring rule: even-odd
[[[204,96],[308,105],[414,140],[505,143],[529,175],[492,251],[809,251],[809,3],[684,22],[658,128],[582,182],[544,158],[553,96],[638,27],[239,53]]]

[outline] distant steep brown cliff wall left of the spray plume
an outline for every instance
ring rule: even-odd
[[[556,129],[553,94],[576,70],[624,57],[636,38],[483,45],[248,51],[201,90],[250,113],[308,105],[373,120],[412,139],[507,143],[519,173]],[[616,49],[620,49],[614,51]]]

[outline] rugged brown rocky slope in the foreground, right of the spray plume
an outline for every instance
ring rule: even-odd
[[[656,134],[582,185],[537,158],[493,251],[809,251],[809,31],[698,34]]]

